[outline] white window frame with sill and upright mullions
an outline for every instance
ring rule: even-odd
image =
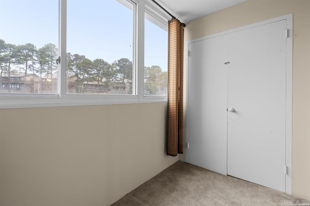
[[[129,1],[129,0],[118,0]],[[144,12],[153,15],[159,27],[168,27],[169,15],[161,11],[152,0],[131,0],[136,3],[133,47],[133,94],[98,95],[66,93],[66,18],[67,0],[59,0],[59,94],[0,94],[0,109],[78,106],[126,103],[167,102],[167,97],[144,96]],[[168,38],[168,37],[167,37]],[[168,48],[167,48],[168,49]],[[168,57],[167,57],[168,58]]]

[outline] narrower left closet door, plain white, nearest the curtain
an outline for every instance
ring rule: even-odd
[[[227,174],[227,35],[189,44],[186,162]]]

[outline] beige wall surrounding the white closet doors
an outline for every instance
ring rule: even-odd
[[[185,41],[293,13],[293,194],[310,199],[310,0],[247,0],[186,23]],[[184,160],[184,155],[180,157]]]

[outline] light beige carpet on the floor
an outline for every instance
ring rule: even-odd
[[[274,206],[287,200],[303,199],[178,161],[112,206]]]

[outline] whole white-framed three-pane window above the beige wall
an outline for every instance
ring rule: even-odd
[[[151,4],[0,0],[0,108],[167,101],[170,16]]]

